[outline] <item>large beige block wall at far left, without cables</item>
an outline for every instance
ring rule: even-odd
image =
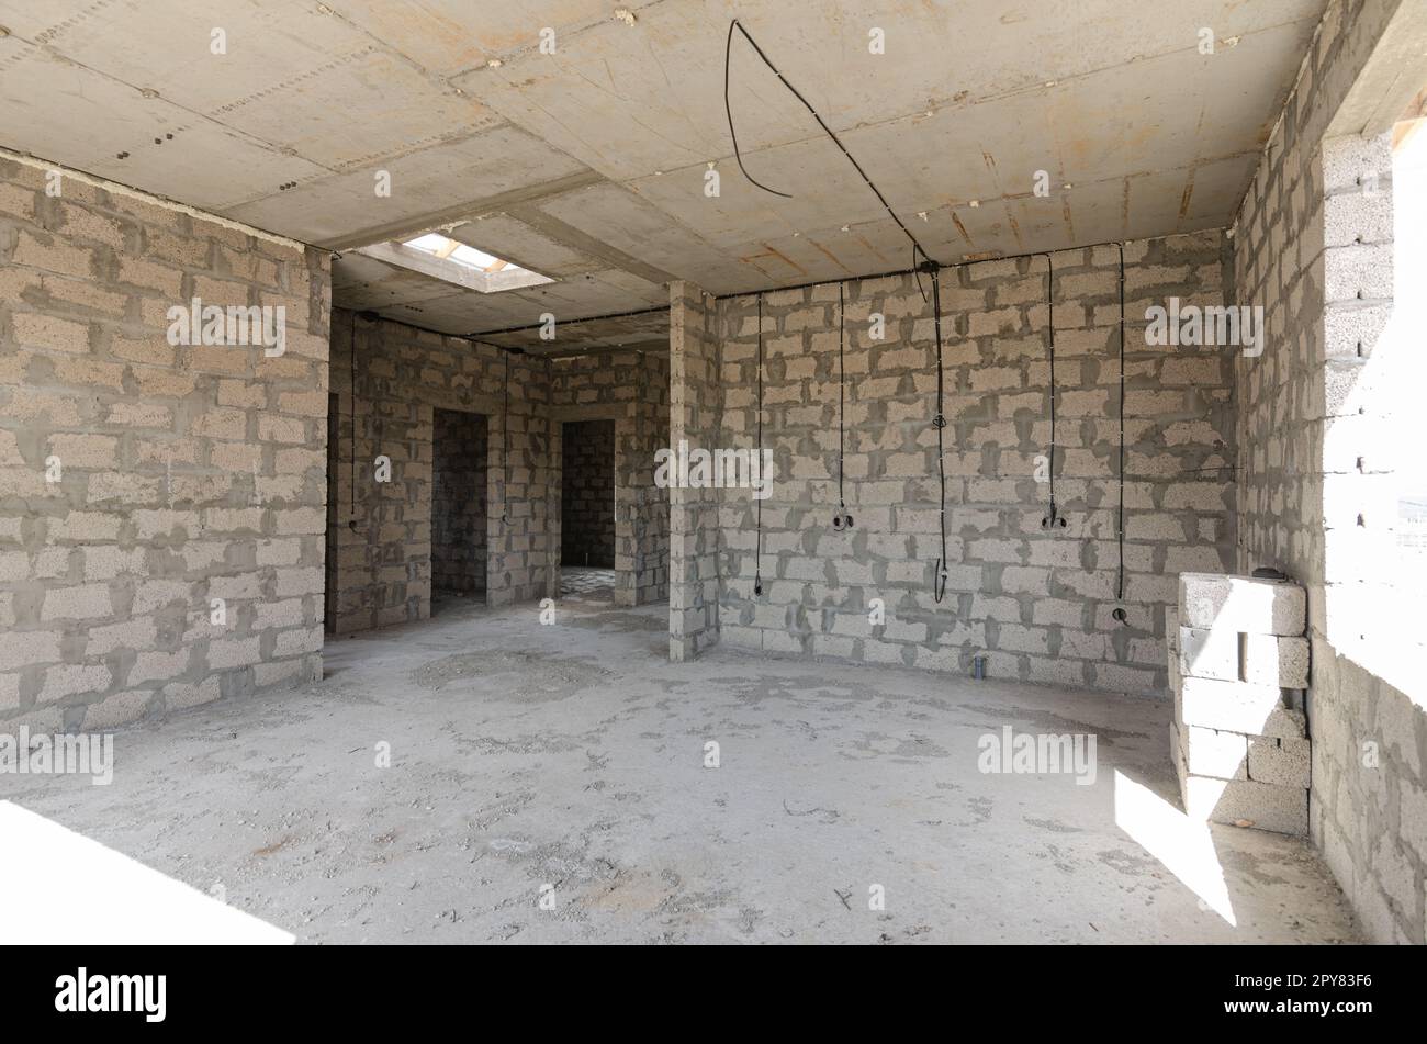
[[[0,730],[320,677],[327,254],[47,171],[0,158]],[[195,297],[285,351],[173,344]]]

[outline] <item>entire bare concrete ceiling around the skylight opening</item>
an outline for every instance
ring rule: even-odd
[[[1227,224],[1326,0],[619,6],[632,24],[611,0],[234,0],[217,16],[0,0],[0,144],[334,250],[452,228],[557,280],[452,292],[337,262],[337,304],[469,332],[636,311],[672,278],[726,294],[909,264],[906,235],[742,40],[728,103],[743,158],[793,198],[739,173],[735,14],[955,262]],[[1037,170],[1050,198],[1032,194]]]

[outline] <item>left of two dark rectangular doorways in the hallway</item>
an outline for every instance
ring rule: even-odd
[[[437,409],[431,436],[431,612],[485,600],[489,435],[484,414]]]

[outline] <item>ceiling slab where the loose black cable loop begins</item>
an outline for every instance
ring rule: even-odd
[[[841,4],[741,4],[738,17],[789,81],[833,130],[872,127],[946,106],[973,108],[1045,84],[1086,80],[1089,94],[1107,73],[1157,57],[1199,58],[1199,30],[1220,40],[1270,27],[1311,33],[1323,0],[1264,3],[1150,3],[1129,11],[1123,0],[1077,3],[903,4],[878,14]],[[722,4],[665,3],[626,29],[611,23],[581,34],[558,54],[522,54],[494,71],[457,78],[507,118],[558,140],[612,181],[729,157],[723,108],[723,46],[729,11]],[[868,31],[888,34],[888,51],[868,53]],[[1216,47],[1214,58],[1236,47]],[[1263,57],[1266,51],[1260,51]],[[1271,67],[1297,71],[1303,48],[1276,56]],[[735,37],[729,106],[745,151],[819,138],[812,117],[775,74]],[[1204,73],[1162,81],[1143,70],[1132,78],[1169,103],[1223,76]],[[1279,98],[1256,98],[1264,120]],[[1119,116],[1114,117],[1119,121]],[[1087,121],[1089,123],[1089,121]],[[1099,123],[1099,120],[1096,120]],[[1006,138],[1019,126],[1000,128]],[[925,141],[925,138],[923,138]],[[933,143],[905,143],[908,153]],[[1216,154],[1230,150],[1216,150]],[[829,171],[831,173],[831,171]]]

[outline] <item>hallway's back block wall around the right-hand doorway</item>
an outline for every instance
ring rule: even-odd
[[[615,605],[665,600],[669,491],[654,483],[654,455],[669,442],[669,359],[641,351],[551,359],[551,416],[557,436],[565,421],[614,422]]]

